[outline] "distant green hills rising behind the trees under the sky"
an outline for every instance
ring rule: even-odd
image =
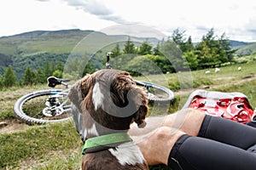
[[[44,65],[46,59],[54,64],[57,64],[58,61],[65,63],[73,48],[91,33],[101,35],[100,37],[93,37],[91,41],[102,43],[103,45],[104,42],[119,42],[128,38],[125,35],[108,36],[102,32],[81,31],[78,29],[31,31],[10,37],[0,37],[0,75],[3,74],[8,65],[13,67],[19,78],[25,71],[26,66],[30,66],[32,70],[37,70]],[[153,45],[160,41],[154,37],[132,37],[132,39],[135,42],[142,42],[147,39]],[[239,56],[252,54],[256,51],[256,43],[230,40],[230,44],[232,48],[238,49],[236,54]],[[91,52],[96,47],[87,44],[86,48],[88,49],[82,48],[82,50]],[[109,47],[109,50],[112,49],[113,46]],[[96,50],[101,49],[96,48]]]

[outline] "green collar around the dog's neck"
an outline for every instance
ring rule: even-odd
[[[130,142],[130,141],[132,141],[132,139],[127,133],[112,133],[112,134],[97,136],[97,137],[85,140],[82,154],[84,155],[87,149],[94,149],[96,147],[102,147],[102,148],[108,149],[109,145],[113,147],[113,144],[120,144],[120,143]]]

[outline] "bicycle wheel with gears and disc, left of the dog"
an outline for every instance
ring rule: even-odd
[[[18,99],[14,106],[15,116],[26,123],[44,124],[49,122],[63,122],[70,120],[72,114],[70,106],[61,105],[66,98],[61,95],[55,98],[56,105],[47,105],[48,99],[55,94],[60,94],[61,89],[48,89],[26,94]],[[58,107],[60,106],[61,107]],[[49,114],[49,111],[54,114]]]

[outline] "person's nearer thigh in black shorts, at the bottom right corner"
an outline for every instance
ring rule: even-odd
[[[256,155],[211,139],[183,135],[174,144],[168,167],[173,170],[255,170]]]

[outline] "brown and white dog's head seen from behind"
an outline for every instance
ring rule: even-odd
[[[80,113],[90,115],[103,127],[125,130],[131,122],[145,126],[148,99],[126,71],[102,70],[86,75],[70,89],[68,98]]]

